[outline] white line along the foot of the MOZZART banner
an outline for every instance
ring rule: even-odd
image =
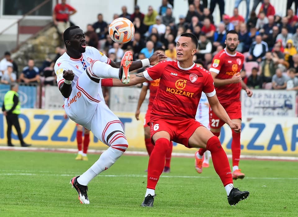
[[[15,150],[15,151],[51,151],[51,152],[67,152],[67,153],[77,153],[78,150],[75,148],[41,148],[41,147],[9,147],[0,146],[0,150]],[[105,150],[89,149],[88,153],[101,154]],[[148,156],[147,152],[144,151],[125,151],[124,155],[142,155]],[[173,152],[174,157],[194,157],[194,153],[176,153]],[[227,154],[228,158],[232,158],[231,154]],[[258,155],[240,155],[240,158],[245,159],[258,159],[258,160],[285,160],[285,161],[298,161],[298,157],[288,157],[288,156],[258,156]]]

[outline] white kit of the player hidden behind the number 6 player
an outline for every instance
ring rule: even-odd
[[[202,92],[201,99],[199,101],[198,108],[196,110],[196,120],[203,124],[206,128],[209,126],[209,102],[207,96]]]

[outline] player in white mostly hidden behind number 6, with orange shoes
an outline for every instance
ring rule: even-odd
[[[199,101],[198,108],[196,110],[196,120],[203,124],[207,129],[210,130],[209,126],[209,103],[207,96],[204,92],[202,92],[201,99]],[[210,161],[210,151],[206,151],[204,153],[204,161],[198,161],[202,157],[198,154],[199,151],[195,153],[195,168],[198,173],[202,172],[202,167],[209,167]],[[199,158],[201,157],[201,158]],[[203,163],[202,165],[198,165],[198,163]]]

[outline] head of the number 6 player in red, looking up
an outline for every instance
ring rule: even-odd
[[[179,62],[192,59],[196,53],[195,45],[189,37],[180,37],[176,43],[176,56]]]

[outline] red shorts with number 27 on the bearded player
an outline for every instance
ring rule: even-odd
[[[222,106],[228,113],[228,116],[231,118],[231,120],[241,119],[241,101],[225,103],[222,104]],[[225,124],[225,122],[220,120],[219,117],[217,117],[217,115],[211,110],[211,108],[209,108],[209,124],[211,128],[219,129]]]

